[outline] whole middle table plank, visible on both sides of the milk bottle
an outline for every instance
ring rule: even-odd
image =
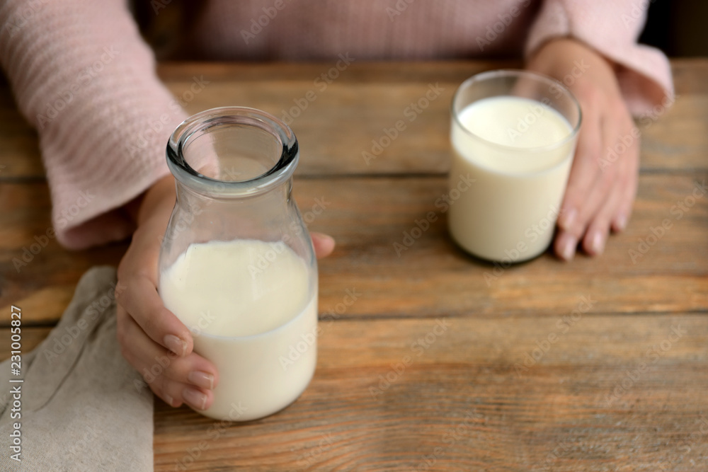
[[[382,313],[539,316],[567,313],[582,295],[598,299],[604,313],[706,311],[708,195],[690,200],[695,183],[706,178],[707,173],[642,176],[629,228],[610,238],[600,258],[580,256],[561,263],[546,254],[503,270],[469,257],[450,241],[445,213],[435,207],[446,192],[445,178],[296,179],[295,197],[310,229],[338,241],[335,253],[319,264],[320,306],[344,311],[346,318]],[[33,322],[57,319],[81,274],[91,265],[117,264],[125,250],[115,245],[72,253],[52,241],[18,274],[13,258],[21,257],[20,248],[48,225],[46,193],[37,196],[40,186],[5,185],[16,203],[0,215],[0,276],[5,281],[0,306],[30,304],[28,320]],[[678,219],[677,202],[692,201]],[[318,205],[324,207],[319,215]],[[404,234],[428,212],[438,219],[399,256],[394,243],[404,245]],[[665,219],[671,227],[654,241],[651,228],[659,231]],[[360,299],[353,306],[341,305],[352,289]]]

